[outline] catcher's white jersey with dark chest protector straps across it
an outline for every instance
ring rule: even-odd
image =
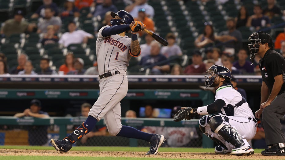
[[[227,116],[254,118],[252,110],[248,103],[243,103],[239,107],[232,107],[242,100],[242,95],[231,85],[221,86],[216,90],[215,100],[225,101],[225,106],[221,109],[222,113]]]

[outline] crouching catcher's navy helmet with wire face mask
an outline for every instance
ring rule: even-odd
[[[208,75],[205,75],[205,89],[212,85],[217,76],[224,77],[228,82],[231,81],[232,75],[231,71],[222,65],[213,65],[207,71]]]

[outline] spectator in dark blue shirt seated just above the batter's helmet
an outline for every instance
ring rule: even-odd
[[[96,5],[94,12],[92,14],[88,14],[87,17],[100,16],[101,19],[103,19],[105,13],[108,11],[117,13],[118,9],[115,5],[113,5],[112,0],[103,0],[103,3],[100,5]]]

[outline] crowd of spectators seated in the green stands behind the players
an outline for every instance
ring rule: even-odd
[[[205,0],[203,3],[210,1],[227,2]],[[98,30],[104,25],[110,25],[109,21],[112,19],[110,13],[120,9],[129,12],[135,20],[142,21],[150,31],[158,31],[159,34],[159,27],[164,27],[156,26],[154,7],[147,0],[65,0],[63,2],[62,5],[58,5],[55,1],[43,0],[43,5],[29,16],[23,10],[15,9],[13,18],[2,23],[0,75],[98,74],[96,62]],[[123,3],[125,7],[118,7],[118,2]],[[186,2],[187,0],[184,0],[184,3]],[[164,37],[168,41],[167,46],[161,46],[150,35],[139,32],[141,55],[130,61],[129,68],[135,66],[144,68],[144,71],[148,69],[146,74],[154,75],[202,75],[207,68],[215,64],[229,67],[233,74],[259,75],[257,64],[260,57],[256,56],[254,62],[250,62],[249,51],[244,45],[248,43],[244,40],[250,34],[244,35],[243,29],[248,29],[250,31],[248,33],[264,30],[276,34],[277,32],[272,32],[271,29],[276,28],[274,25],[277,24],[273,24],[272,21],[276,17],[282,19],[283,11],[275,0],[267,0],[264,8],[253,2],[252,11],[248,9],[248,5],[243,5],[243,2],[241,0],[237,4],[239,10],[236,17],[225,17],[224,25],[227,30],[221,31],[214,27],[215,21],[205,22],[204,30],[194,36],[192,43],[195,48],[191,51],[182,49],[181,44],[184,39],[175,31]],[[33,19],[36,21],[30,21]],[[280,23],[284,24],[284,20]],[[88,25],[91,30],[88,29]],[[281,25],[279,29],[284,26]],[[278,31],[278,34],[273,36],[276,37],[274,48],[285,57],[285,28],[281,33]],[[20,34],[23,33],[25,35],[21,37]],[[13,35],[17,34],[26,41],[18,42],[20,47],[17,48],[14,57],[17,58],[17,64],[13,63],[11,66],[10,62],[16,60],[11,59],[11,51],[2,49],[4,48],[2,46],[11,43]],[[32,42],[33,35],[36,35],[36,40],[30,47],[39,50],[37,59],[30,58],[34,55],[24,49],[24,46]],[[49,51],[50,49],[59,49],[61,56],[56,58],[58,54]],[[134,72],[139,71],[141,70],[137,69]],[[131,70],[129,73],[135,74],[131,73]]]

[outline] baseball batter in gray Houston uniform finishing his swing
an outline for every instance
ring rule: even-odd
[[[99,30],[96,42],[100,96],[85,122],[63,140],[51,139],[50,143],[57,151],[67,152],[73,143],[89,133],[104,117],[111,135],[146,140],[151,144],[146,155],[155,155],[165,141],[163,135],[145,133],[121,124],[120,101],[128,91],[128,61],[132,56],[139,56],[140,47],[136,32],[142,31],[146,26],[140,21],[134,21],[124,10],[112,12],[111,16],[114,18],[110,20],[111,26],[104,26]],[[125,35],[129,30],[132,33],[131,38]]]

